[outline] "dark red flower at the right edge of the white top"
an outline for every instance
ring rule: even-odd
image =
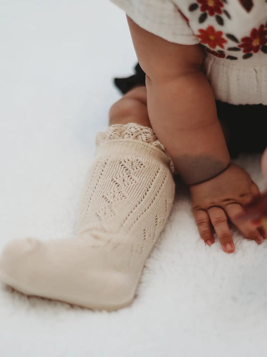
[[[238,47],[243,49],[243,53],[254,52],[257,53],[261,46],[267,43],[267,29],[264,25],[260,25],[258,30],[252,29],[250,37],[243,37],[241,39],[241,45]]]

